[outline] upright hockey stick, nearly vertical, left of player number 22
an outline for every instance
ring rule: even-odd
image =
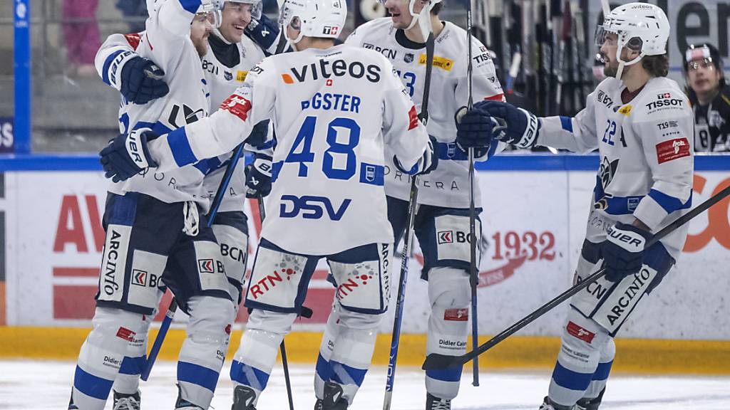
[[[466,83],[468,98],[466,109],[474,107],[472,94],[472,0],[466,7]],[[469,147],[469,282],[472,285],[472,350],[479,344],[479,320],[477,320],[477,209],[474,205],[474,147]],[[429,355],[430,356],[430,355]],[[479,360],[472,362],[472,386],[479,385]]]

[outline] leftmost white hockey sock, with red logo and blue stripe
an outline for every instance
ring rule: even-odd
[[[79,409],[104,409],[129,344],[145,330],[142,314],[97,307],[93,330],[84,341],[74,374],[74,404]]]

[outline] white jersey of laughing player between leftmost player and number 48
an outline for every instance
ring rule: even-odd
[[[216,37],[217,34],[211,34],[208,40],[208,53],[201,58],[203,71],[205,71],[205,79],[210,87],[210,107],[216,109],[229,96],[231,96],[237,88],[239,88],[246,80],[248,71],[253,68],[259,61],[263,60],[266,55],[261,51],[261,47],[253,42],[248,36],[244,35],[241,42],[235,46],[238,50],[238,63],[231,67],[219,61],[213,52],[211,42],[226,42],[222,37]],[[230,158],[226,155],[225,159]],[[209,166],[213,171],[205,177],[203,184],[205,190],[209,193],[211,199],[215,198],[215,193],[226,173],[227,162],[224,160],[220,163],[220,159],[214,158],[209,161]],[[245,207],[246,194],[246,177],[244,174],[245,163],[239,160],[228,183],[226,195],[220,202],[218,212],[243,212]]]

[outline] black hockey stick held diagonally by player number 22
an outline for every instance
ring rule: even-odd
[[[699,204],[699,206],[696,206],[696,208],[692,209],[690,212],[687,212],[683,216],[677,218],[677,220],[675,220],[674,222],[670,223],[669,225],[666,225],[663,229],[661,229],[661,231],[658,231],[656,233],[656,235],[654,235],[653,238],[647,242],[645,248],[648,248],[651,245],[656,244],[656,242],[660,241],[662,238],[664,238],[664,236],[667,236],[667,235],[669,235],[669,233],[674,232],[677,228],[684,225],[685,223],[688,223],[694,217],[696,217],[699,214],[702,214],[702,212],[709,209],[710,206],[717,204],[718,202],[722,201],[727,196],[730,196],[730,186],[721,190],[715,196],[712,196],[710,199],[708,199],[707,201],[704,201],[702,204]],[[591,283],[593,283],[596,279],[599,279],[599,277],[604,276],[605,273],[606,273],[605,268],[599,269],[599,271],[596,271],[596,273],[591,274],[591,276],[588,276],[582,282],[569,288],[564,293],[561,293],[556,298],[554,298],[552,301],[545,303],[544,305],[540,306],[537,310],[535,310],[531,314],[528,314],[526,317],[523,317],[523,319],[516,322],[514,325],[511,325],[509,328],[503,330],[502,333],[499,333],[497,336],[494,336],[492,339],[489,339],[484,344],[482,344],[479,347],[479,349],[477,349],[475,351],[466,353],[466,355],[461,355],[461,356],[446,356],[446,355],[437,355],[437,354],[429,355],[428,357],[426,357],[426,361],[423,362],[423,369],[429,370],[429,369],[439,369],[439,368],[450,368],[450,367],[457,367],[457,366],[464,365],[464,363],[468,362],[469,360],[474,359],[475,357],[481,355],[482,353],[486,352],[487,350],[491,349],[492,347],[495,347],[497,344],[499,344],[499,342],[501,342],[504,339],[507,339],[508,337],[517,333],[518,330],[520,330],[521,328],[524,328],[526,325],[529,325],[532,321],[536,320],[538,317],[541,317],[543,314],[550,312],[550,310],[553,309],[555,306],[558,306],[560,303],[563,303],[564,301],[568,300],[572,295],[575,295],[576,293],[583,290],[585,287],[588,287],[588,285],[591,285]]]

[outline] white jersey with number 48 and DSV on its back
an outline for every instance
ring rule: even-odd
[[[303,255],[393,241],[384,145],[411,167],[428,135],[383,55],[348,45],[273,55],[218,112],[148,147],[166,171],[185,165],[180,152],[194,163],[232,150],[266,118],[277,147],[261,236]]]

